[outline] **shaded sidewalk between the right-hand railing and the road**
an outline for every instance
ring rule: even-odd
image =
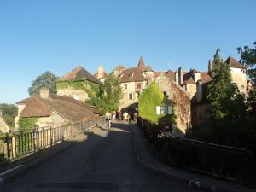
[[[238,184],[226,183],[224,181],[219,181],[211,177],[203,177],[201,175],[193,174],[190,172],[184,172],[167,166],[166,164],[160,162],[160,160],[149,150],[148,143],[143,136],[143,132],[137,128],[137,125],[131,123],[131,132],[133,137],[133,148],[137,157],[137,163],[143,166],[150,172],[155,174],[168,177],[193,189],[201,189],[204,191],[212,192],[253,192],[255,190],[248,189]]]

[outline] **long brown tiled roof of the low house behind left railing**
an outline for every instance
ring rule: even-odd
[[[83,102],[67,96],[49,95],[49,99],[40,96],[32,96],[26,103],[26,107],[20,113],[21,118],[49,117],[53,112],[61,114],[65,119],[78,121],[82,119],[95,119],[97,110]]]

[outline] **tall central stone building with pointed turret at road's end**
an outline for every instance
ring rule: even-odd
[[[154,79],[154,70],[149,65],[145,67],[142,56],[137,67],[125,68],[119,65],[112,73],[119,78],[119,83],[123,90],[120,109],[136,103],[140,91],[145,89]]]

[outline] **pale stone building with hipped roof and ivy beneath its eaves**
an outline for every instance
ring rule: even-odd
[[[101,79],[104,70],[100,68]],[[57,80],[57,95],[69,96],[80,102],[89,99],[88,91],[92,86],[100,86],[102,82],[86,71],[83,67],[76,67],[71,72]]]

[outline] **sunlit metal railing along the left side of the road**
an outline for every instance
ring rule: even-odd
[[[58,127],[2,134],[0,135],[0,166],[34,154],[40,149],[49,148],[55,143],[61,143],[104,122],[104,119],[94,119]]]

